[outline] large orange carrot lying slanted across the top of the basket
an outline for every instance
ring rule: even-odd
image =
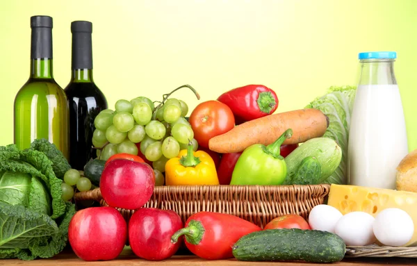
[[[293,110],[267,115],[235,126],[231,131],[211,138],[208,147],[218,153],[244,151],[252,144],[269,145],[275,142],[288,128],[293,130],[293,136],[286,139],[284,144],[296,144],[321,137],[328,126],[329,118],[320,110]]]

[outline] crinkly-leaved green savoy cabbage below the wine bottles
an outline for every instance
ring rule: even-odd
[[[63,160],[44,140],[23,151],[0,147],[0,259],[51,258],[64,249],[75,206],[61,199]]]

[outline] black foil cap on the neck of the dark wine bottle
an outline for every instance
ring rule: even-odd
[[[71,23],[72,65],[71,69],[92,69],[92,23]]]

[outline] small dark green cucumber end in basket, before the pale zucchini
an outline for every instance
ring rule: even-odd
[[[302,159],[295,172],[293,185],[316,185],[321,177],[321,165],[316,157],[308,156]]]

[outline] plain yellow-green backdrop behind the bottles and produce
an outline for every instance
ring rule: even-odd
[[[29,74],[29,19],[50,15],[54,76],[63,88],[70,80],[70,23],[93,23],[95,81],[111,108],[140,95],[158,100],[186,83],[202,101],[260,83],[277,92],[277,112],[284,112],[332,85],[356,85],[359,52],[397,51],[409,149],[416,149],[416,14],[414,0],[1,1],[0,144],[13,142],[13,101]],[[190,108],[198,103],[191,92],[176,95]]]

